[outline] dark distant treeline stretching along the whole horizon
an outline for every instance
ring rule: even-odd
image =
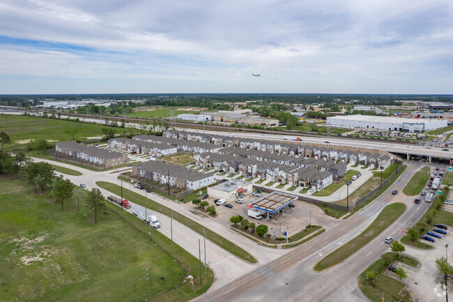
[[[358,104],[395,105],[395,100],[424,100],[453,103],[453,95],[411,95],[411,94],[316,94],[316,93],[125,93],[125,94],[38,94],[38,95],[1,95],[0,105],[31,105],[28,100],[145,100],[146,105],[210,107],[217,109],[215,103],[245,102],[259,100],[264,103],[337,103],[358,100]],[[338,101],[341,99],[341,101]]]

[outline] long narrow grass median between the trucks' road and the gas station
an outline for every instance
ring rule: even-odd
[[[115,185],[114,183],[98,181],[96,182],[96,184],[116,195],[121,194],[121,187]],[[148,206],[148,208],[150,209],[153,209],[154,211],[158,211],[167,216],[171,215],[171,210],[167,206],[162,206],[162,204],[159,204],[158,202],[155,202],[149,198],[148,200],[146,200],[144,196],[132,192],[131,190],[123,188],[123,197],[129,199],[132,202],[136,202],[137,204],[141,204],[141,206],[145,206],[146,203],[146,206]],[[173,218],[183,223],[184,225],[187,225],[187,227],[190,227],[195,232],[201,235],[204,234],[204,227],[202,225],[199,225],[199,223],[194,222],[194,220],[191,220],[190,218],[187,218],[175,211],[173,212]],[[231,254],[236,255],[237,257],[240,257],[241,259],[244,259],[248,262],[256,263],[256,259],[254,259],[254,257],[252,257],[252,255],[250,255],[247,251],[243,250],[239,246],[236,246],[236,244],[232,243],[231,241],[224,239],[222,236],[217,235],[217,233],[211,231],[210,229],[206,229],[206,236],[208,236],[210,241],[213,241],[213,243],[217,244],[221,248],[224,248],[224,250],[231,252]]]

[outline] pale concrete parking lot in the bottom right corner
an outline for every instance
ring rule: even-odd
[[[396,266],[403,267],[408,275],[407,279],[404,280],[404,284],[407,285],[406,290],[413,295],[413,301],[444,301],[445,292],[440,287],[440,281],[443,279],[443,274],[440,274],[436,268],[436,258],[445,257],[446,248],[445,244],[450,246],[448,250],[448,259],[453,259],[453,233],[452,225],[449,225],[447,229],[447,235],[442,235],[442,239],[436,239],[435,242],[427,242],[434,248],[432,250],[421,250],[419,248],[413,248],[412,246],[406,246],[405,255],[417,259],[420,264],[417,267],[408,266],[397,262]],[[398,280],[394,273],[386,272],[392,278]],[[453,292],[453,282],[449,282],[448,291]]]

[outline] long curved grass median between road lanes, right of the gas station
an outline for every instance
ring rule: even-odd
[[[401,216],[404,211],[406,211],[406,205],[399,202],[385,206],[378,217],[371,222],[371,225],[369,225],[364,232],[321,259],[321,261],[314,266],[314,270],[323,271],[324,269],[328,269],[329,267],[344,261],[344,259],[353,255],[362,248],[362,246],[378,236],[378,234],[381,234],[381,232]]]

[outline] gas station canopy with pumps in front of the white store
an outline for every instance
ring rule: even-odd
[[[254,202],[247,204],[247,206],[260,212],[267,213],[268,220],[272,220],[272,216],[274,216],[275,213],[282,213],[285,206],[293,207],[295,199],[298,199],[295,195],[274,191],[256,199]]]

